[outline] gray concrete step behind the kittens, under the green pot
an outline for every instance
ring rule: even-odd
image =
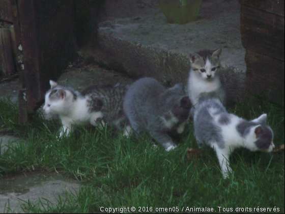
[[[189,52],[223,48],[221,78],[229,100],[244,92],[246,65],[238,1],[203,1],[198,18],[167,23],[159,1],[106,1],[108,20],[99,24],[99,48],[79,54],[133,77],[151,76],[166,86],[187,83]]]

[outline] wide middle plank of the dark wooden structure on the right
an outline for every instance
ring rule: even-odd
[[[284,17],[241,5],[243,46],[284,61]]]

